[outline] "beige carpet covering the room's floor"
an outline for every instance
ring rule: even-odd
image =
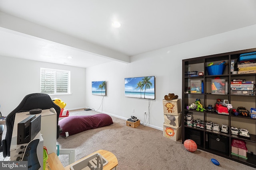
[[[97,113],[80,109],[70,111],[70,116]],[[167,139],[157,129],[142,125],[132,128],[126,126],[126,120],[112,119],[113,125],[60,137],[57,143],[61,149],[76,149],[75,160],[100,149],[108,150],[117,157],[118,170],[254,170],[202,150],[188,152],[181,141]],[[67,155],[59,158],[64,166],[68,165]],[[214,165],[211,158],[218,160],[220,166]]]

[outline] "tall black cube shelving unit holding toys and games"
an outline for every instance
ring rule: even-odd
[[[239,96],[230,94],[230,81],[232,79],[245,78],[247,81],[252,80],[256,82],[256,74],[232,74],[232,72],[230,72],[230,63],[232,60],[235,60],[236,62],[240,54],[254,51],[256,51],[256,48],[182,60],[182,143],[184,143],[186,139],[192,139],[197,143],[198,149],[205,150],[207,152],[211,152],[224,158],[228,158],[230,160],[234,160],[236,162],[240,162],[242,164],[246,164],[248,166],[256,168],[256,119],[232,115],[231,110],[229,110],[228,115],[222,115],[214,111],[201,112],[189,110],[186,108],[186,106],[188,106],[189,104],[194,103],[196,99],[201,100],[201,104],[204,106],[204,108],[206,108],[210,104],[214,106],[216,99],[226,99],[229,101],[230,104],[232,104],[234,108],[237,108],[239,106],[246,107],[248,110],[250,110],[251,107],[256,108],[256,96]],[[220,63],[221,61],[226,61],[226,63],[228,63],[223,74],[208,75],[206,69],[208,64],[216,64]],[[204,72],[204,75],[187,76],[185,74],[185,72],[194,70],[198,72]],[[228,91],[226,94],[212,94],[211,81],[216,77],[226,79],[226,82],[228,82]],[[187,93],[186,89],[190,85],[190,80],[200,80],[204,82],[202,87],[204,88],[204,93]],[[211,119],[214,119],[214,123],[220,124],[220,129],[222,124],[226,124],[229,127],[229,131],[228,133],[222,133],[221,131],[218,132],[208,130],[205,126],[204,128],[189,127],[186,125],[186,114],[188,112],[192,112],[194,118],[200,117],[201,119],[203,119],[203,121],[212,121]],[[220,122],[218,122],[218,120]],[[250,138],[232,135],[230,132],[230,127],[232,126],[238,126],[237,128],[248,129],[250,133]],[[216,150],[214,149],[214,147],[211,147],[211,145],[214,145],[213,141],[210,140],[210,138],[212,137],[218,137],[218,139],[223,140],[223,143],[225,143],[225,146],[227,148],[217,148]],[[240,158],[231,154],[232,139],[240,139],[246,142],[246,146],[248,148],[247,159]]]

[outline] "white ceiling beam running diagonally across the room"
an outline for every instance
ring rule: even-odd
[[[0,21],[0,27],[4,28],[1,30],[8,31],[9,33],[19,34],[30,38],[48,40],[74,47],[99,57],[104,57],[123,63],[130,63],[130,57],[128,55],[124,55],[118,51],[114,51],[106,47],[54,31],[30,21],[22,20],[21,18],[11,16],[4,12],[0,12]]]

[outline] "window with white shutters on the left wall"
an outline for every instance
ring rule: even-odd
[[[70,71],[40,68],[40,92],[69,94]]]

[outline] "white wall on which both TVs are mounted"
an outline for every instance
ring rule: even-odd
[[[255,30],[256,25],[252,25],[132,56],[129,64],[113,61],[86,68],[86,106],[94,109],[100,107],[102,97],[91,94],[91,82],[106,80],[107,96],[103,99],[103,109],[100,107],[99,111],[123,119],[135,115],[143,121],[148,100],[124,97],[124,78],[156,76],[156,100],[150,102],[150,126],[162,130],[164,95],[175,93],[182,96],[182,59],[256,48]]]

